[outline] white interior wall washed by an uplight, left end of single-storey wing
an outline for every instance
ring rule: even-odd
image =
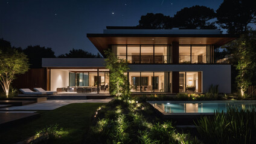
[[[68,70],[51,69],[51,91],[68,86]]]

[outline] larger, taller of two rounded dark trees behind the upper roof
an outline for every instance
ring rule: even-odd
[[[210,22],[214,17],[213,9],[195,5],[178,11],[173,17],[173,25],[181,29],[216,29],[215,22]]]

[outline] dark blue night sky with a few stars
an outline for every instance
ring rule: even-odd
[[[0,0],[0,38],[12,46],[51,47],[56,56],[72,48],[97,53],[87,33],[106,26],[136,26],[147,13],[173,16],[184,7],[204,5],[217,10],[223,0]]]

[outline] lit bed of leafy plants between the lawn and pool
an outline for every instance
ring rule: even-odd
[[[176,132],[169,121],[146,119],[152,115],[149,105],[114,100],[101,107],[95,115],[95,124],[87,134],[90,143],[199,143],[188,134]],[[98,119],[98,120],[97,120]],[[151,120],[151,122],[149,122]]]

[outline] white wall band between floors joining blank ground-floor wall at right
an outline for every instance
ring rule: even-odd
[[[231,93],[231,65],[129,65],[129,71],[202,71],[202,92],[208,91],[211,84],[219,85],[219,92]]]

